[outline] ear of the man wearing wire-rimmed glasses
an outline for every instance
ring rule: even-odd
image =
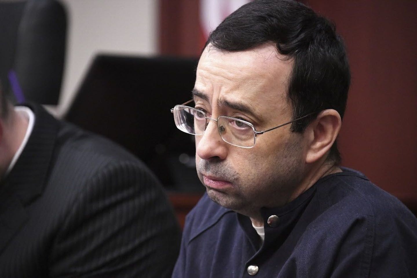
[[[326,109],[306,128],[308,140],[306,163],[314,163],[322,158],[332,147],[342,127],[339,112]]]

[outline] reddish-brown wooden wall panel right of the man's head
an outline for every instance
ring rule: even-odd
[[[308,4],[336,23],[347,45],[352,85],[339,136],[343,165],[405,202],[417,200],[417,1]]]

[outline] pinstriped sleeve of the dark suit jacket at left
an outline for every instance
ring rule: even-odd
[[[170,277],[180,230],[143,165],[112,163],[84,185],[50,252],[51,277]]]

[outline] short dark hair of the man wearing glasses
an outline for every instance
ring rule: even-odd
[[[320,111],[334,109],[343,118],[350,70],[342,38],[326,18],[292,0],[254,0],[229,15],[206,42],[225,51],[241,51],[273,42],[279,53],[294,59],[288,88],[292,124],[302,133]],[[329,158],[340,163],[334,142]]]

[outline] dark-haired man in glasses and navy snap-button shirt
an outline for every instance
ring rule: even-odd
[[[290,0],[254,0],[208,38],[193,98],[206,195],[173,277],[417,277],[417,220],[339,166],[349,65],[334,27]]]

